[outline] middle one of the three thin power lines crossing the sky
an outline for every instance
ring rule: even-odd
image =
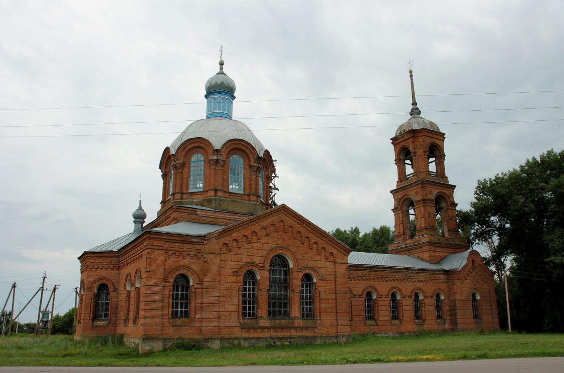
[[[511,111],[511,110],[535,110],[535,109],[561,109],[564,106],[545,106],[545,107],[528,107],[528,108],[499,108],[499,109],[470,109],[470,110],[438,110],[426,111],[426,113],[459,113],[459,112],[479,112],[479,111]],[[389,113],[345,113],[345,114],[312,114],[312,115],[288,115],[288,116],[272,116],[272,117],[247,117],[239,118],[240,120],[250,119],[287,119],[287,118],[311,118],[311,117],[340,117],[340,116],[363,116],[363,115],[395,115],[406,114],[406,112],[389,112]],[[137,121],[137,122],[99,122],[99,123],[74,123],[74,124],[33,124],[33,125],[10,125],[0,126],[0,128],[36,128],[36,127],[68,127],[68,126],[99,126],[99,125],[115,125],[115,124],[149,124],[149,123],[174,123],[174,122],[193,122],[193,119],[178,120],[156,120],[156,121]]]

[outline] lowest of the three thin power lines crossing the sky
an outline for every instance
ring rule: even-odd
[[[491,122],[453,122],[441,125],[452,124],[496,124],[496,123],[520,123],[520,122],[549,122],[564,121],[563,119],[538,119],[538,120],[512,120],[512,121],[491,121]],[[397,127],[396,124],[382,124],[370,126],[335,126],[335,127],[301,127],[301,128],[261,128],[252,131],[292,131],[292,130],[316,130],[316,129],[346,129],[346,128],[376,128],[376,127]],[[209,133],[217,131],[208,131]],[[222,131],[228,132],[228,131]],[[111,134],[77,134],[77,135],[22,135],[22,136],[0,136],[0,138],[42,138],[42,137],[91,137],[91,136],[130,136],[130,135],[169,135],[182,132],[138,132],[138,133],[111,133]]]

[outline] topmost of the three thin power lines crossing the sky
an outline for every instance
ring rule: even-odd
[[[487,93],[445,93],[417,95],[418,97],[431,96],[473,96],[473,95],[504,95],[504,94],[531,94],[531,93],[558,93],[564,90],[552,91],[517,91],[517,92],[487,92]],[[308,100],[347,100],[347,99],[371,99],[371,98],[399,98],[411,97],[409,95],[384,95],[384,96],[350,96],[350,97],[317,97],[317,98],[287,98],[271,100],[240,100],[242,102],[281,102],[281,101],[308,101]],[[26,111],[26,110],[60,110],[60,109],[98,109],[98,108],[118,108],[118,107],[144,107],[144,106],[178,106],[178,105],[197,105],[206,104],[205,102],[180,102],[167,104],[132,104],[132,105],[97,105],[97,106],[66,106],[66,107],[43,107],[43,108],[0,108],[0,111]]]

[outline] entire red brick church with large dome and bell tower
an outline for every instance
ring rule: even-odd
[[[145,224],[139,201],[131,232],[78,258],[75,338],[119,334],[147,352],[499,328],[492,271],[459,234],[444,133],[420,116],[411,70],[410,117],[391,138],[395,240],[382,254],[351,251],[275,203],[275,161],[232,119],[223,66],[205,84],[205,119],[162,152],[156,219]]]

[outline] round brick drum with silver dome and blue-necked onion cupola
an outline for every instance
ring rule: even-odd
[[[205,84],[205,119],[188,125],[162,153],[159,216],[174,205],[246,214],[274,207],[274,160],[248,126],[233,120],[235,82],[224,64]]]

